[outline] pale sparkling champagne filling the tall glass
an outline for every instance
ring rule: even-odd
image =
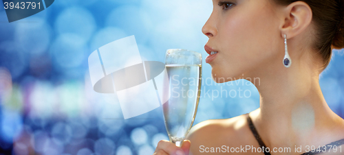
[[[169,100],[162,105],[164,121],[169,139],[183,141],[196,117],[200,100],[202,64],[166,64],[169,76]]]

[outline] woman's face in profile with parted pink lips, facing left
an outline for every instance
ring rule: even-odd
[[[208,62],[215,82],[259,78],[252,76],[283,66],[276,5],[270,0],[213,0],[213,6],[202,32],[209,38],[206,51],[218,51]]]

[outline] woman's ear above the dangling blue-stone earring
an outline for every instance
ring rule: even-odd
[[[283,12],[284,22],[281,27],[281,36],[287,34],[288,38],[292,38],[301,34],[312,21],[312,9],[303,1],[290,3]]]

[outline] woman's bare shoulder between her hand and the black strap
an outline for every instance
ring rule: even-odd
[[[191,152],[198,154],[208,148],[245,147],[255,145],[255,138],[250,133],[246,115],[230,119],[211,119],[197,123],[191,128],[186,139],[191,141]],[[218,152],[217,152],[218,153]]]

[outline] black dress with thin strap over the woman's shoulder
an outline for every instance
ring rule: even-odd
[[[247,121],[248,121],[248,126],[250,127],[250,130],[252,132],[252,134],[255,136],[255,138],[257,139],[261,149],[263,150],[264,148],[264,154],[265,155],[271,155],[270,152],[266,152],[266,145],[264,144],[263,140],[261,140],[261,137],[259,136],[255,126],[253,125],[252,123],[252,120],[250,118],[250,116],[248,115],[248,113],[246,113],[246,118],[247,118]],[[334,141],[332,143],[329,143],[327,145],[325,145],[325,147],[321,147],[320,149],[318,150],[312,150],[310,152],[305,152],[301,155],[312,155],[312,154],[319,154],[319,153],[322,153],[322,152],[329,152],[330,149],[333,149],[334,146],[338,147],[340,145],[343,145],[344,144],[344,139],[341,139],[341,140],[338,140],[338,141]],[[330,151],[331,152],[331,151]]]

